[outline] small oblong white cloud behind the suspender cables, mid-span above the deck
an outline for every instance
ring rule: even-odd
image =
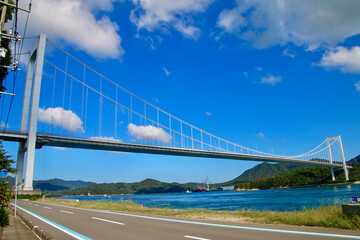
[[[162,143],[169,143],[171,141],[171,136],[167,132],[162,128],[151,125],[137,126],[130,123],[128,125],[128,131],[136,140],[159,141]]]

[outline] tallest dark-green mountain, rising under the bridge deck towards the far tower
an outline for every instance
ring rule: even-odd
[[[233,186],[242,182],[251,182],[258,178],[272,177],[278,174],[290,172],[295,169],[304,168],[304,165],[293,163],[277,163],[271,164],[263,162],[253,168],[246,170],[243,174],[224,183],[218,183],[216,186]]]

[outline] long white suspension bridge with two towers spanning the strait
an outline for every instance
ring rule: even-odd
[[[46,48],[51,54],[45,54]],[[17,179],[22,182],[24,178],[24,191],[33,190],[35,149],[43,146],[292,162],[330,167],[333,180],[334,168],[341,168],[349,180],[340,136],[326,138],[296,156],[232,143],[136,96],[62,50],[45,34],[39,35],[30,51],[20,128],[5,125],[0,138],[19,142]]]

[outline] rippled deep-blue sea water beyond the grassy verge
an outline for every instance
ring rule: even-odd
[[[293,188],[258,191],[218,191],[200,193],[169,193],[112,196],[73,196],[64,199],[80,201],[127,201],[146,207],[173,209],[204,208],[211,210],[273,210],[294,211],[323,205],[349,202],[360,195],[360,185]]]

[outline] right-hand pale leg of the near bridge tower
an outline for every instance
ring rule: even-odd
[[[34,159],[35,159],[35,144],[36,144],[36,131],[37,131],[37,117],[40,101],[41,77],[44,64],[44,54],[46,45],[46,35],[41,33],[37,42],[36,60],[35,60],[35,74],[31,96],[31,109],[30,109],[30,122],[27,140],[27,154],[26,154],[26,168],[24,179],[24,191],[33,190],[33,177],[34,177]],[[33,59],[30,60],[32,61]]]

